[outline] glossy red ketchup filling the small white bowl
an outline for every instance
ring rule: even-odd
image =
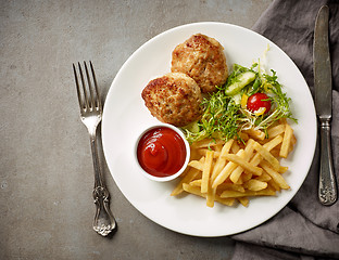
[[[159,127],[141,136],[137,155],[146,172],[154,177],[168,177],[184,166],[186,146],[177,132],[167,127]]]

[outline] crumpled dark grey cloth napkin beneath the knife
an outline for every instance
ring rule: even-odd
[[[280,47],[303,74],[314,94],[313,36],[322,5],[330,10],[332,67],[331,145],[339,183],[339,1],[276,0],[252,28]],[[339,259],[339,202],[323,206],[317,198],[318,145],[307,178],[293,199],[274,218],[233,235],[233,260]]]

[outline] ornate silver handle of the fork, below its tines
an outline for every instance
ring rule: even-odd
[[[105,188],[104,180],[99,166],[96,134],[90,134],[90,144],[95,167],[95,188],[92,195],[96,204],[96,216],[93,230],[100,235],[106,236],[115,229],[116,223],[110,210],[110,194]]]

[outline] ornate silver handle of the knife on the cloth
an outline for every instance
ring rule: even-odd
[[[318,197],[323,205],[330,206],[337,200],[337,183],[335,178],[331,145],[330,119],[321,119],[321,172]]]

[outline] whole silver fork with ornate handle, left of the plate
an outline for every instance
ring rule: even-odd
[[[87,127],[90,136],[90,146],[95,167],[95,188],[93,198],[96,204],[96,216],[93,222],[93,230],[102,236],[106,236],[116,226],[114,217],[110,210],[110,194],[105,187],[104,179],[102,178],[99,166],[99,156],[97,148],[97,127],[102,118],[102,104],[100,101],[98,84],[95,75],[93,65],[89,62],[91,77],[88,73],[87,64],[84,62],[87,83],[85,82],[84,73],[80,63],[78,65],[79,76],[76,70],[76,65],[73,64],[75,83],[80,106],[80,118]],[[81,87],[79,86],[81,82]]]

